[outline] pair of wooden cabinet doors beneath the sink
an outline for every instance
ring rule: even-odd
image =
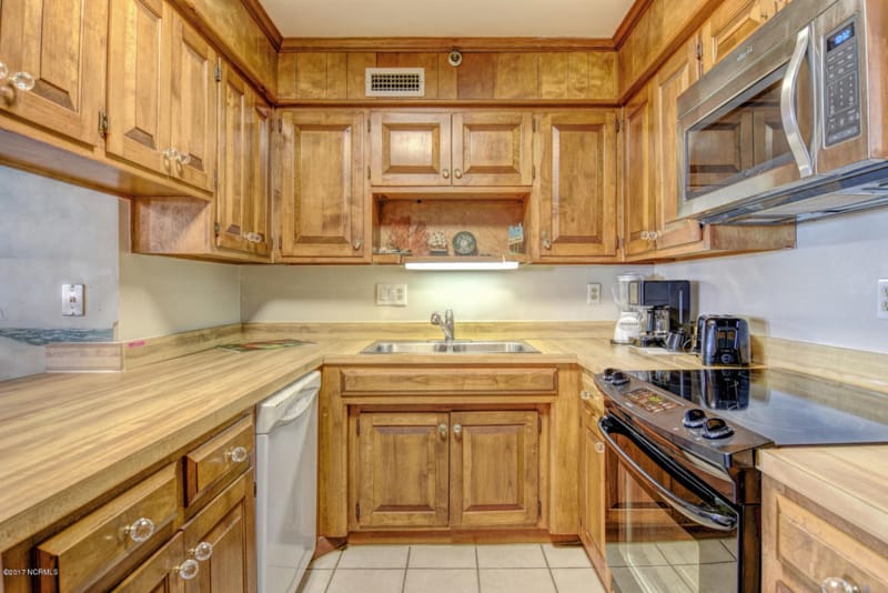
[[[362,412],[355,529],[535,526],[539,414]]]

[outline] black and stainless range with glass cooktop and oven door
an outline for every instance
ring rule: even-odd
[[[888,442],[888,395],[788,371],[608,369],[595,381],[605,553],[624,593],[759,591],[757,452]]]

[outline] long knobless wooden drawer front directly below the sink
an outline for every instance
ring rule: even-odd
[[[556,393],[555,368],[414,368],[343,369],[342,393]]]

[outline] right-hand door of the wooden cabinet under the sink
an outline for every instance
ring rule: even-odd
[[[451,414],[451,526],[536,525],[537,419],[535,411]]]

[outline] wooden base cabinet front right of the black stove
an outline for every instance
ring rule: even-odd
[[[761,591],[820,591],[830,577],[842,591],[888,591],[888,542],[771,478],[761,496]]]

